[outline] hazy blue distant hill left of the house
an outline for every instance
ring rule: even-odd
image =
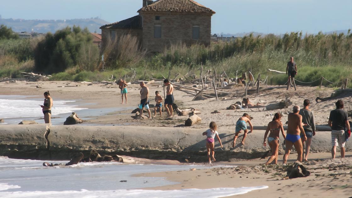
[[[67,26],[87,27],[90,32],[101,33],[100,26],[109,24],[108,21],[96,18],[67,19],[67,20],[25,20],[25,19],[0,19],[0,24],[11,27],[15,32],[56,32]]]

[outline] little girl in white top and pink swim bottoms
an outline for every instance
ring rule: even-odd
[[[206,130],[205,132],[203,132],[203,135],[207,136],[206,146],[207,146],[207,151],[208,151],[209,164],[211,164],[212,160],[210,159],[210,154],[211,154],[211,158],[213,159],[213,161],[215,161],[215,158],[214,158],[214,154],[215,154],[215,152],[214,152],[214,141],[215,141],[214,138],[215,138],[215,136],[216,136],[216,138],[218,138],[218,141],[219,141],[220,146],[222,148],[222,143],[219,138],[219,134],[216,131],[216,123],[210,122],[209,129]]]

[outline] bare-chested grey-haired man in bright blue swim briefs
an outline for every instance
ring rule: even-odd
[[[288,115],[288,128],[287,128],[287,135],[286,135],[286,151],[284,154],[284,158],[282,161],[283,165],[286,165],[288,156],[290,155],[291,148],[294,145],[297,151],[298,157],[297,161],[302,161],[303,158],[303,146],[300,134],[303,135],[303,141],[307,140],[306,133],[304,133],[304,129],[302,126],[302,116],[298,114],[300,112],[300,107],[295,105],[293,107],[293,113]]]

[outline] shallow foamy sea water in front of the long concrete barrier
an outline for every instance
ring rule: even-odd
[[[202,169],[209,166],[89,162],[73,166],[44,167],[43,162],[0,157],[0,197],[224,197],[268,187],[140,190],[175,183],[159,177],[133,177],[133,174],[189,170],[194,167]],[[61,162],[67,161],[54,163]]]

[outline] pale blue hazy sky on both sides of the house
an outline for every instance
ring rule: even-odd
[[[213,9],[212,33],[327,32],[352,28],[352,0],[196,0]],[[137,15],[142,0],[0,0],[2,18],[113,23]]]

